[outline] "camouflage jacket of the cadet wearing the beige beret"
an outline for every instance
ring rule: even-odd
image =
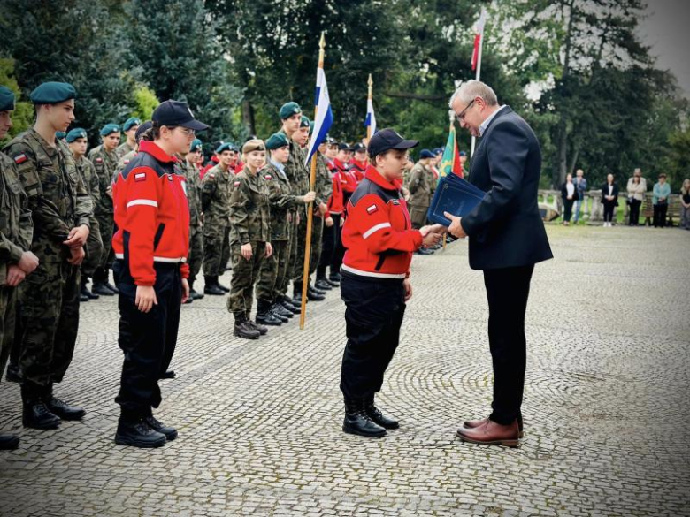
[[[231,243],[271,242],[270,193],[262,172],[252,174],[245,167],[234,177],[233,193],[230,194]]]

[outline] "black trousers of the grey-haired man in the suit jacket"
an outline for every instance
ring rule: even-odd
[[[488,335],[494,365],[494,422],[507,425],[521,416],[525,390],[525,310],[533,265],[484,270],[489,307]]]

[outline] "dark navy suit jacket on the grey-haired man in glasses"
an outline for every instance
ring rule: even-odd
[[[487,194],[467,216],[470,267],[492,270],[553,258],[539,214],[541,149],[532,128],[506,106],[489,123],[474,156],[470,181]]]

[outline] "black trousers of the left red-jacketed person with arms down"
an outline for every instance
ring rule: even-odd
[[[113,272],[119,289],[119,347],[125,354],[120,388],[115,401],[122,420],[134,421],[161,402],[158,379],[173,359],[180,325],[182,284],[180,264],[156,262],[157,305],[143,313],[136,305],[136,285],[124,261]]]

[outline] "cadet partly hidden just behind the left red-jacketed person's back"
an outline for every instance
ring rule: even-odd
[[[202,209],[201,209],[201,177],[196,168],[199,155],[202,152],[202,143],[199,139],[192,141],[189,152],[184,156],[180,163],[185,179],[187,192],[187,202],[189,205],[189,299],[201,300],[202,293],[194,290],[196,275],[199,274],[203,262],[203,230],[202,230]]]

